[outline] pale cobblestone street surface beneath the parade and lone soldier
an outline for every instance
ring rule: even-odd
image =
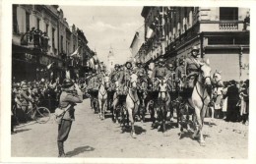
[[[216,119],[210,127],[208,121],[206,118],[206,146],[200,146],[187,131],[180,137],[179,129],[170,126],[163,136],[157,129],[152,130],[150,122],[136,122],[137,137],[132,138],[128,130],[122,131],[119,124],[112,123],[109,113],[101,121],[86,99],[76,106],[76,121],[64,146],[68,157],[247,158],[248,126]],[[58,156],[53,118],[46,124],[29,123],[15,130],[17,134],[11,137],[12,157]]]

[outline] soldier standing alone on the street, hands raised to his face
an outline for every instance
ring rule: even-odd
[[[72,121],[75,120],[75,108],[76,103],[83,102],[83,92],[76,87],[76,92],[72,89],[74,83],[71,80],[64,80],[63,91],[60,94],[59,99],[59,107],[67,108],[69,107],[58,127],[58,149],[59,149],[59,157],[65,156],[64,152],[64,141],[68,138],[69,132],[71,130]]]

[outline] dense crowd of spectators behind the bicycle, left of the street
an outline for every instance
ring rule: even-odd
[[[21,122],[28,122],[27,113],[36,103],[37,106],[47,107],[53,112],[58,106],[58,99],[61,92],[59,79],[32,82],[12,83],[12,133],[13,127]]]

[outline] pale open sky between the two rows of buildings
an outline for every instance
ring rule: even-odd
[[[69,26],[82,29],[89,47],[96,50],[99,61],[107,64],[110,46],[116,63],[131,57],[130,45],[136,30],[144,27],[143,7],[129,6],[60,6]]]

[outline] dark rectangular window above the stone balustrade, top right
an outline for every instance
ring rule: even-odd
[[[238,20],[238,8],[220,8],[220,21]]]

